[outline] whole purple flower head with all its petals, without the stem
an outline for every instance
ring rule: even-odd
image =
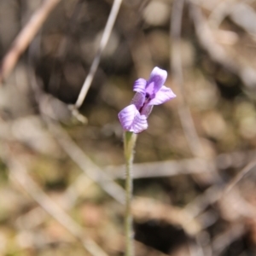
[[[137,79],[133,90],[137,93],[131,100],[131,105],[119,112],[119,121],[125,131],[139,133],[148,128],[148,115],[154,105],[160,105],[176,97],[170,88],[167,88],[166,70],[154,67],[150,78]]]

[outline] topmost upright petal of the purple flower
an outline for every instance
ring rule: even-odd
[[[160,88],[165,84],[167,78],[167,72],[164,69],[160,69],[159,67],[154,67],[152,73],[150,74],[150,78],[148,79],[148,84],[146,87],[146,93],[149,96],[154,96]],[[154,83],[154,86],[152,86]]]

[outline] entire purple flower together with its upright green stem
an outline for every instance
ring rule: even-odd
[[[131,200],[132,162],[137,133],[148,128],[148,116],[154,105],[160,105],[176,97],[173,91],[164,85],[166,78],[166,70],[154,67],[148,80],[137,79],[133,84],[135,96],[130,105],[123,108],[118,114],[124,130],[126,166],[125,256],[134,256]]]

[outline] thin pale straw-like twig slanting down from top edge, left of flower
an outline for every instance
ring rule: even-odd
[[[110,15],[108,16],[107,24],[106,24],[104,32],[102,34],[102,39],[101,39],[99,48],[97,50],[94,60],[92,61],[91,66],[90,66],[90,72],[88,73],[88,75],[84,81],[84,84],[82,86],[82,89],[80,90],[77,102],[74,104],[74,106],[71,107],[72,109],[80,108],[84,102],[84,98],[85,98],[85,96],[90,88],[90,84],[96,74],[97,67],[99,66],[102,52],[105,49],[105,47],[108,43],[108,38],[110,37],[110,34],[113,30],[113,24],[116,20],[118,13],[119,13],[119,8],[120,8],[121,3],[122,3],[122,0],[114,0],[114,2],[113,2],[113,6],[110,11]]]

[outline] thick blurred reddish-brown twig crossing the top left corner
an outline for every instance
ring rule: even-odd
[[[60,1],[61,0],[44,0],[44,3],[32,15],[26,26],[15,38],[9,52],[4,56],[0,67],[0,84],[2,84],[3,79],[6,79],[9,76],[9,73],[11,73],[16,62],[19,60],[20,55],[31,43],[38,30],[49,16],[51,10],[54,9],[56,4]]]

